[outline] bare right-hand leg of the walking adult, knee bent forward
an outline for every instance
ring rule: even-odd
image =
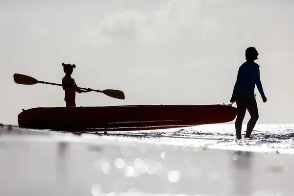
[[[245,138],[250,138],[251,132],[253,131],[253,128],[259,118],[258,115],[258,108],[255,97],[250,98],[248,100],[247,110],[250,114],[250,120],[247,123],[247,130],[245,134]]]

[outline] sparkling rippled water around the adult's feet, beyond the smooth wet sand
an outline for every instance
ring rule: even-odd
[[[245,130],[246,124],[242,128],[242,137],[245,136]],[[209,124],[187,128],[108,133],[121,134],[109,137],[123,141],[129,140],[131,137],[132,141],[137,138],[138,142],[174,146],[294,154],[294,124],[256,124],[251,134],[253,138],[243,138],[242,140],[236,140],[234,124]]]

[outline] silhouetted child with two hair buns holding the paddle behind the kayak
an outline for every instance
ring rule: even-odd
[[[72,78],[73,69],[75,68],[75,65],[71,64],[65,64],[62,63],[63,71],[65,73],[65,76],[62,78],[62,86],[64,92],[65,92],[65,102],[66,107],[75,107],[75,92],[77,93],[87,93],[90,92],[91,89],[88,89],[87,91],[83,91],[77,88],[77,85],[74,82],[74,79]]]

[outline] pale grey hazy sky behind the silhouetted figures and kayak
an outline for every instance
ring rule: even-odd
[[[77,106],[229,104],[248,47],[268,98],[255,88],[258,123],[294,123],[293,10],[292,0],[1,0],[0,123],[65,106],[59,86],[13,81],[61,83],[63,62],[79,87],[125,94],[77,94]]]

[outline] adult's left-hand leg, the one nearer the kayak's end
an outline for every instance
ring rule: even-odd
[[[248,99],[245,95],[237,95],[236,97],[237,118],[235,122],[235,128],[236,128],[236,138],[238,140],[242,139],[241,130],[242,130],[242,123],[246,113],[247,103],[248,103]]]

